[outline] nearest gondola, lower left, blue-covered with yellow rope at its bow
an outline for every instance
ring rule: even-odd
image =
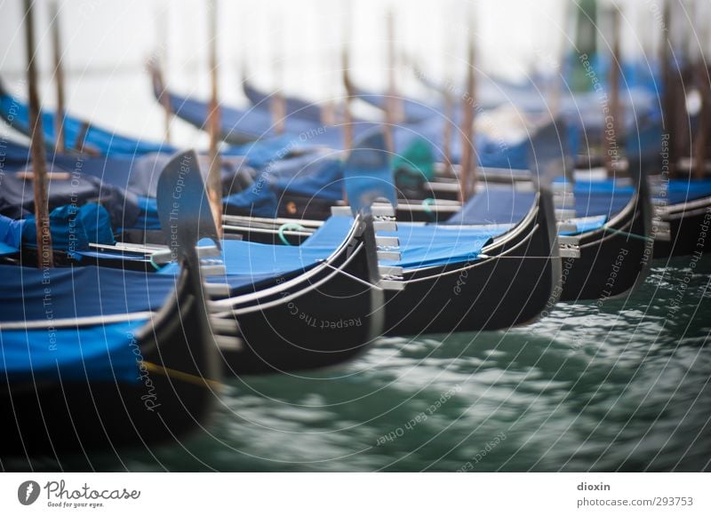
[[[168,165],[166,180],[184,158]],[[22,266],[20,250],[5,246],[4,260],[20,263],[0,265],[0,455],[148,447],[203,428],[220,366],[187,197],[176,201],[185,209],[173,226],[180,274],[164,281],[106,267]]]

